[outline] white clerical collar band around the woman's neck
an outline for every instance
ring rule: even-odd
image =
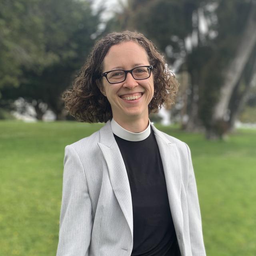
[[[148,119],[148,127],[143,132],[138,132],[138,133],[129,132],[128,130],[125,130],[124,128],[122,128],[122,126],[120,126],[114,120],[114,118],[112,118],[111,120],[111,128],[112,128],[112,132],[116,134],[116,136],[124,140],[141,141],[141,140],[145,140],[150,135],[150,120]]]

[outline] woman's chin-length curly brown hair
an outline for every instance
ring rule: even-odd
[[[92,52],[74,80],[72,90],[67,90],[62,95],[66,109],[78,121],[107,122],[112,118],[110,103],[100,92],[103,60],[111,46],[128,41],[134,41],[142,46],[148,54],[150,65],[153,66],[154,96],[148,105],[148,112],[158,112],[162,105],[170,108],[174,104],[178,82],[173,73],[167,70],[164,57],[154,44],[138,32],[113,32],[95,43]]]

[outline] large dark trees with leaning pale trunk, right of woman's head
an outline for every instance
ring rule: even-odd
[[[232,107],[232,95],[253,74],[245,72],[255,59],[254,9],[254,1],[242,0],[130,0],[109,24],[143,32],[177,72],[188,72],[186,128],[204,126],[213,138],[232,129],[240,109]],[[236,104],[243,98],[236,97]],[[224,113],[230,113],[226,121]]]

